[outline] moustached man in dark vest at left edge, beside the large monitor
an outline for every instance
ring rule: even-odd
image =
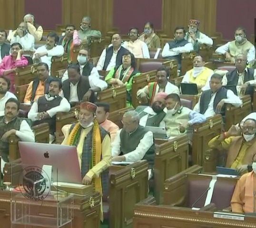
[[[19,118],[20,102],[10,98],[5,103],[4,116],[0,117],[0,155],[1,171],[6,162],[9,162],[9,137],[15,134],[21,141],[35,142],[35,135],[27,120]]]

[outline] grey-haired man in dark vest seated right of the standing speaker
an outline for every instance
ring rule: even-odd
[[[149,169],[152,169],[155,158],[153,133],[139,125],[139,114],[136,111],[125,113],[122,123],[123,128],[118,130],[112,142],[112,161],[135,162],[145,159]]]

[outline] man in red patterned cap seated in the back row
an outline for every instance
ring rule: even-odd
[[[207,46],[213,45],[213,40],[209,38],[206,34],[199,31],[200,21],[196,19],[190,19],[188,25],[188,32],[186,33],[185,39],[188,42],[193,44],[194,50],[198,53],[199,47],[201,44],[205,44]]]

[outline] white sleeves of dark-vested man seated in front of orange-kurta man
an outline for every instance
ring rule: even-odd
[[[59,106],[51,108],[46,112],[49,114],[50,117],[52,117],[59,112],[68,113],[69,110],[70,110],[70,104],[68,100],[65,97],[63,97]],[[31,119],[32,121],[36,121],[38,120],[37,114],[38,114],[38,100],[32,104],[31,109],[28,113],[28,118]]]

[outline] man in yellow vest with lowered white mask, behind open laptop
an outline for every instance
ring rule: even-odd
[[[205,66],[205,62],[201,56],[196,56],[193,61],[193,69],[186,72],[182,79],[182,83],[195,83],[197,89],[205,91],[210,89],[210,79],[213,70]]]

